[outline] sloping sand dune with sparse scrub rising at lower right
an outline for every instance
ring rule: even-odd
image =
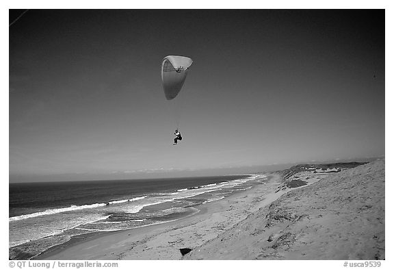
[[[384,160],[288,192],[185,259],[384,259]]]

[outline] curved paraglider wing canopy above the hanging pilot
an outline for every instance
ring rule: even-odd
[[[187,69],[193,61],[189,57],[169,55],[164,57],[161,64],[161,80],[167,100],[178,95],[187,76]]]

